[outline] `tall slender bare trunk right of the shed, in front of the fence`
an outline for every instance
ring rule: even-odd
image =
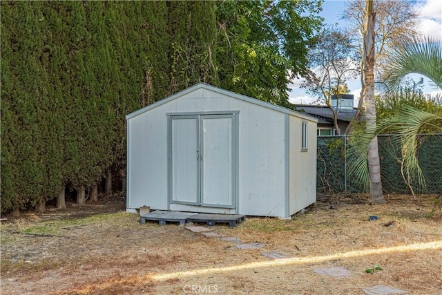
[[[373,0],[366,0],[367,24],[364,32],[364,79],[365,79],[365,126],[367,129],[376,127],[376,106],[374,104],[374,19]],[[370,181],[370,199],[375,204],[385,202],[382,192],[381,164],[379,161],[378,138],[374,137],[369,144],[367,153],[368,173]]]

